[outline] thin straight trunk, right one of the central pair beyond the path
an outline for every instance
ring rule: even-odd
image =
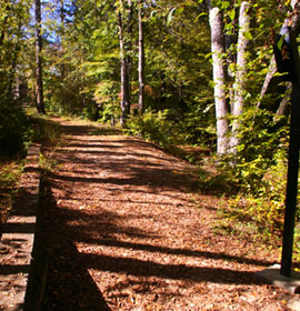
[[[139,107],[141,112],[144,110],[144,49],[143,49],[143,21],[142,21],[143,0],[139,1]]]

